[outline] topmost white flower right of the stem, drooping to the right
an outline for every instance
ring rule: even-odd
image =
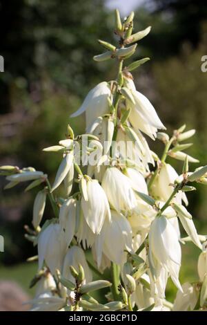
[[[136,91],[132,80],[126,82],[126,86],[130,89],[134,104],[130,100],[126,100],[127,106],[131,109],[129,120],[135,130],[146,133],[150,138],[155,139],[157,136],[157,129],[166,129],[161,120],[148,100],[148,98],[139,91]]]

